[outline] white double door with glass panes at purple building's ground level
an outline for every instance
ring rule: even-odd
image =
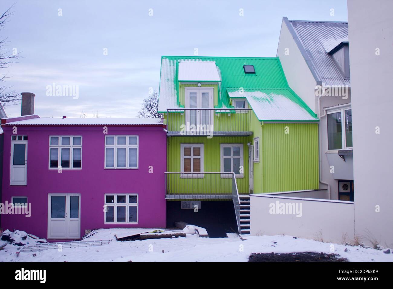
[[[81,196],[49,194],[48,239],[79,239],[81,237]]]

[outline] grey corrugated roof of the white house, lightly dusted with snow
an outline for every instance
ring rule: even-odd
[[[287,17],[283,20],[316,81],[350,86],[350,80],[343,77],[327,54],[339,43],[348,41],[348,22],[288,20]]]

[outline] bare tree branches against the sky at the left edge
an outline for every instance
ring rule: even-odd
[[[13,7],[14,6],[9,7],[7,11],[0,16],[0,31],[6,26],[9,21],[8,18],[13,15],[13,11],[11,11]],[[7,43],[7,38],[0,36],[0,68],[8,68],[21,57],[19,53],[16,53],[15,51],[9,52],[6,48]],[[20,100],[20,93],[15,90],[9,90],[11,87],[7,87],[4,84],[7,78],[9,78],[7,73],[0,73],[0,102],[3,107],[18,103]]]

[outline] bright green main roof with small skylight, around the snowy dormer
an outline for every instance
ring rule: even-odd
[[[180,61],[214,61],[221,82],[218,83],[219,99],[215,108],[229,108],[228,92],[243,88],[245,91],[261,91],[281,88],[280,92],[294,103],[304,108],[313,118],[312,110],[288,86],[278,57],[201,57],[201,56],[162,56],[159,105],[160,112],[169,108],[181,107],[178,91],[178,65]],[[245,74],[244,64],[251,64],[255,74]],[[283,89],[284,88],[284,89]]]

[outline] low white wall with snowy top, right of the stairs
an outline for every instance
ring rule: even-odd
[[[271,214],[270,204],[277,201],[298,204],[301,217]],[[255,194],[250,195],[250,212],[253,236],[285,234],[339,244],[354,241],[353,202]]]

